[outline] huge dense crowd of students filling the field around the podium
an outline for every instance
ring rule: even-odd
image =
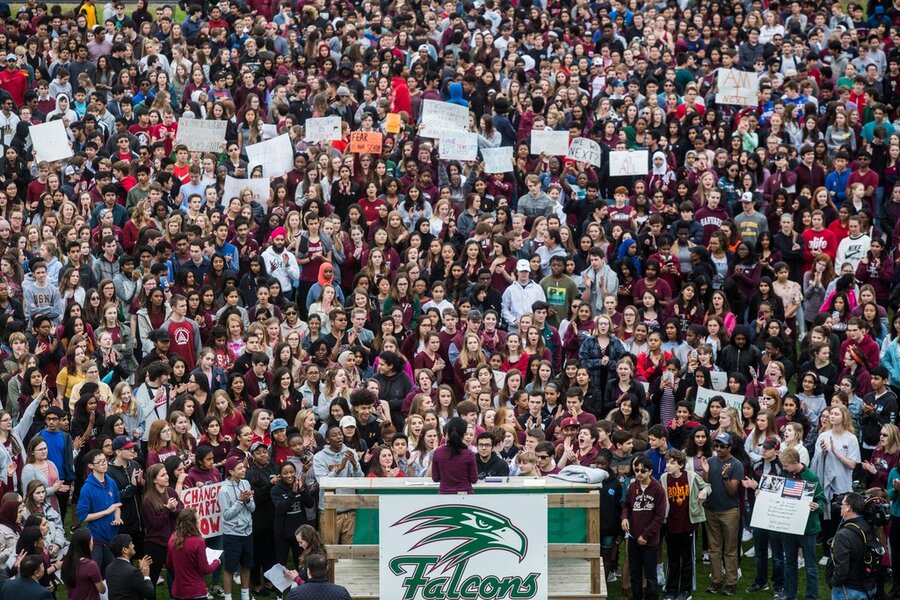
[[[292,600],[349,597],[324,478],[573,465],[611,475],[623,597],[686,600],[708,562],[708,593],[796,600],[805,569],[812,600],[832,554],[834,598],[900,594],[900,6],[844,10],[0,3],[0,596],[248,600],[279,563]],[[757,103],[717,103],[729,68]],[[426,100],[508,172],[441,159]],[[55,120],[73,156],[37,160]],[[599,166],[533,153],[545,129]],[[293,168],[226,197],[278,134]],[[646,175],[610,173],[629,150]],[[815,483],[803,535],[749,527],[769,474]],[[220,482],[204,540],[182,492]],[[879,497],[893,582],[858,564]]]

